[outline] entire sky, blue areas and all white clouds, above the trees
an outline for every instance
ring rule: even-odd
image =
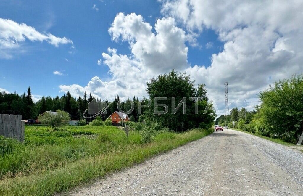
[[[175,69],[219,110],[225,81],[229,108],[253,110],[260,91],[303,72],[301,10],[296,0],[2,0],[0,90],[140,97]]]

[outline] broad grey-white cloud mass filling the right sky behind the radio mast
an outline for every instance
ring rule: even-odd
[[[220,109],[225,108],[225,81],[231,106],[253,108],[259,91],[303,71],[303,4],[299,1],[162,2],[162,13],[199,34],[212,29],[224,42],[223,51],[211,56],[211,66],[186,69],[197,83],[206,84]]]

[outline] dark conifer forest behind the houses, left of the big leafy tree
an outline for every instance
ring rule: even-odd
[[[63,96],[59,97],[58,95],[54,98],[51,96],[42,96],[40,100],[36,103],[32,99],[31,88],[28,87],[27,93],[18,95],[14,93],[5,93],[0,92],[0,113],[3,114],[21,114],[22,120],[28,119],[37,119],[39,114],[44,113],[45,111],[56,111],[62,110],[70,114],[71,119],[80,120],[84,119],[83,113],[88,108],[88,103],[94,100],[95,97],[90,93],[87,95],[85,92],[83,97],[79,96],[78,98],[72,96],[71,93],[67,92]],[[111,115],[113,112],[118,111],[117,103],[120,100],[119,95],[115,96],[115,99],[112,102],[108,100],[96,99],[97,103],[106,103],[110,106],[106,109],[106,114],[102,116],[103,120]],[[132,101],[135,104],[138,104],[138,98],[133,97]],[[126,110],[131,104],[129,101],[121,102],[122,110]],[[86,113],[86,116],[90,116]],[[134,110],[129,117],[133,121],[137,121],[140,115],[137,114],[137,110]],[[89,118],[88,121],[93,120],[94,118]]]

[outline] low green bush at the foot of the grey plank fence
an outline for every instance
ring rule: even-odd
[[[24,145],[18,140],[0,136],[0,155],[11,153],[23,147]]]

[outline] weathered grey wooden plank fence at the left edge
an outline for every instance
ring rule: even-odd
[[[0,114],[0,135],[24,141],[24,122],[21,115]]]

